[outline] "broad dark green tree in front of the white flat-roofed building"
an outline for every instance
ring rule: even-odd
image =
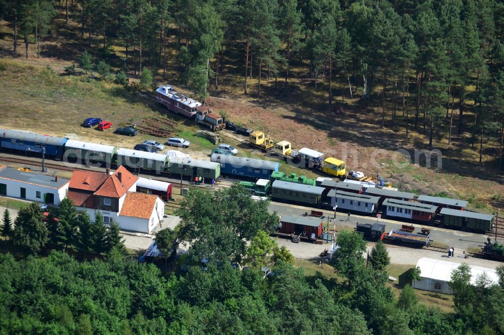
[[[49,241],[49,231],[44,223],[44,214],[38,202],[22,208],[14,222],[12,243],[25,255],[35,255]]]

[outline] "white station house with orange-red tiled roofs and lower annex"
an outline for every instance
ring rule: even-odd
[[[114,220],[123,230],[150,233],[164,215],[164,201],[157,195],[135,192],[137,180],[124,166],[110,175],[76,170],[67,196],[92,220],[99,210],[104,223]]]

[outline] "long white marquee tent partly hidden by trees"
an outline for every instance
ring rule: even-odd
[[[431,258],[421,258],[416,266],[420,268],[420,280],[412,281],[412,287],[443,294],[453,294],[453,289],[450,287],[452,271],[457,269],[461,264],[448,262],[444,260],[436,260]],[[498,283],[497,272],[494,269],[483,268],[478,266],[469,266],[471,268],[471,284],[475,284],[479,276],[486,274],[492,283]]]

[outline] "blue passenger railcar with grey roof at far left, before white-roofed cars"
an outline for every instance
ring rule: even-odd
[[[18,152],[42,153],[61,158],[65,151],[65,143],[68,138],[52,137],[24,131],[0,129],[0,146],[2,149],[15,150]]]

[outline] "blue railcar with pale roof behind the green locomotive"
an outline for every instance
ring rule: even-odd
[[[221,173],[258,179],[270,179],[274,171],[278,171],[278,162],[248,157],[226,156],[212,154],[212,161],[221,164]]]

